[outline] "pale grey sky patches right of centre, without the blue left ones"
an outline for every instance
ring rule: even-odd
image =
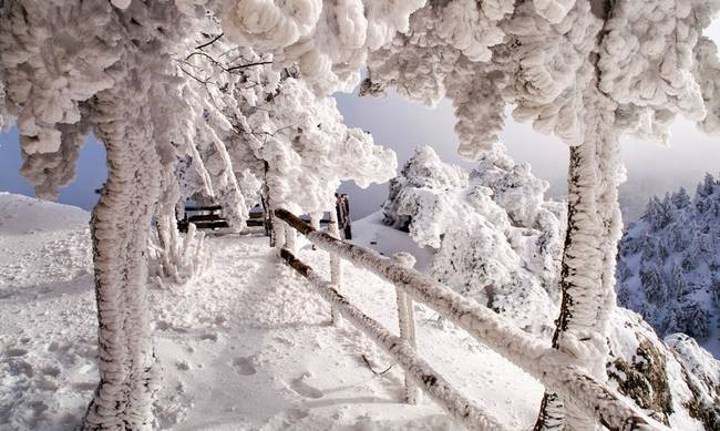
[[[706,34],[720,45],[720,20],[716,19]],[[377,143],[398,153],[401,166],[418,145],[430,145],[443,161],[472,167],[472,163],[463,162],[455,153],[457,137],[453,131],[455,121],[450,102],[429,109],[392,93],[380,99],[358,98],[356,94],[340,94],[336,99],[346,123],[372,132]],[[671,129],[669,146],[628,138],[623,142],[628,182],[621,191],[628,191],[626,194],[630,193],[629,189],[644,191],[640,196],[630,197],[642,201],[637,203],[638,206],[645,205],[648,194],[689,187],[706,172],[720,173],[720,136],[706,135],[682,119],[678,119]],[[536,176],[551,182],[549,194],[553,197],[564,195],[568,160],[566,144],[512,119],[508,119],[501,138],[511,157],[516,162],[528,162]],[[387,196],[384,185],[363,191],[346,184],[342,191],[351,194],[354,217],[378,209]]]

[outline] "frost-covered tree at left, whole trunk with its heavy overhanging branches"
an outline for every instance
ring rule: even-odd
[[[161,173],[183,142],[171,51],[181,29],[192,27],[169,2],[2,4],[4,104],[18,119],[23,175],[52,196],[71,178],[89,131],[106,148],[107,182],[91,222],[100,386],[88,429],[151,425],[157,372],[148,337],[146,226]]]

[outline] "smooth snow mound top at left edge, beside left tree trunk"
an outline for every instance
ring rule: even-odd
[[[0,192],[0,235],[29,230],[62,230],[86,227],[90,213],[84,209]]]

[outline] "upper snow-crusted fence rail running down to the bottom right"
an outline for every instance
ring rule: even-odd
[[[374,250],[359,247],[317,230],[285,209],[276,209],[277,218],[304,234],[310,243],[366,268],[403,289],[412,299],[465,329],[471,336],[505,357],[518,368],[556,391],[566,403],[594,417],[609,430],[664,430],[649,422],[634,406],[613,389],[583,370],[579,361],[553,349],[543,340],[523,331],[512,321],[444,285],[400,265]]]

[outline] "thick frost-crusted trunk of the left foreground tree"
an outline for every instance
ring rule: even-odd
[[[122,88],[122,86],[121,86]],[[150,337],[146,250],[160,189],[160,157],[142,95],[99,95],[95,131],[107,152],[107,184],[92,213],[100,384],[83,429],[152,427],[157,389]],[[110,93],[110,94],[107,94]],[[126,101],[140,102],[127,107]]]

